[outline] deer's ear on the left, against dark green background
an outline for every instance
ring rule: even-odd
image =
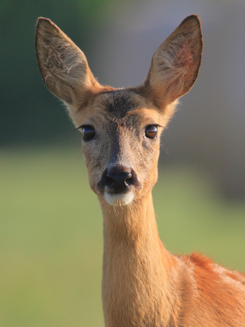
[[[39,18],[35,48],[41,76],[50,92],[68,104],[100,87],[84,53],[47,18]]]

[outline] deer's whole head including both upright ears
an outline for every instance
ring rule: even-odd
[[[149,192],[157,179],[160,134],[198,75],[197,16],[187,17],[156,50],[145,82],[125,90],[101,86],[84,53],[50,20],[39,19],[35,45],[45,84],[83,134],[91,189],[110,205]]]

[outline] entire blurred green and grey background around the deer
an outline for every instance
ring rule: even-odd
[[[155,212],[168,250],[204,251],[245,272],[244,9],[218,0],[1,1],[0,326],[103,326],[102,215],[80,134],[38,72],[39,16],[82,48],[102,83],[119,87],[140,83],[156,47],[200,15],[201,74],[163,135]]]

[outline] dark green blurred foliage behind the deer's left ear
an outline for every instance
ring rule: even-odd
[[[2,0],[0,2],[0,145],[71,138],[60,101],[43,85],[34,49],[40,16],[50,18],[93,61],[98,25],[117,0]],[[126,3],[126,2],[125,2]],[[92,68],[92,67],[91,67]]]

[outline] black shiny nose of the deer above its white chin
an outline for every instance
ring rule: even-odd
[[[107,186],[112,192],[123,192],[128,190],[131,185],[138,186],[138,184],[139,181],[133,169],[115,166],[105,169],[98,186],[101,190]]]

